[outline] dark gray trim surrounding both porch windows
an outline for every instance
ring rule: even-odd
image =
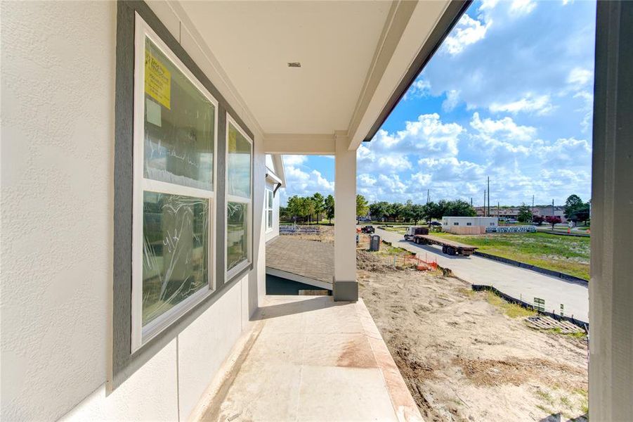
[[[217,131],[217,180],[214,184],[216,200],[216,290],[207,298],[192,306],[173,323],[157,334],[141,348],[131,352],[131,312],[132,312],[132,211],[133,211],[133,116],[134,116],[134,53],[135,53],[135,19],[136,14],[147,23],[186,68],[202,83],[202,85],[218,101],[216,113],[218,115]],[[221,298],[238,280],[253,269],[252,262],[233,275],[230,279],[225,276],[224,261],[224,231],[226,220],[224,209],[225,174],[226,170],[226,114],[230,113],[240,127],[253,141],[253,132],[235,113],[218,89],[209,81],[204,72],[196,65],[178,40],[167,30],[167,27],[157,18],[155,13],[144,1],[117,2],[117,60],[116,60],[116,91],[115,91],[115,177],[114,177],[114,256],[113,256],[113,296],[112,296],[112,373],[108,374],[107,389],[112,391],[124,383],[131,374],[148,362],[159,350],[176,338],[192,321],[205,312],[211,305]],[[254,173],[254,159],[251,161]],[[254,212],[251,214],[254,226]],[[249,240],[253,248],[253,238]],[[253,249],[252,249],[253,250]]]

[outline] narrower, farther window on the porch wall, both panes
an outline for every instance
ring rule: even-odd
[[[226,116],[226,274],[231,276],[251,262],[252,141]]]

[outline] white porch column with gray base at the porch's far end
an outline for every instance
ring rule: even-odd
[[[356,282],[356,151],[336,136],[334,170],[334,300],[358,300]]]

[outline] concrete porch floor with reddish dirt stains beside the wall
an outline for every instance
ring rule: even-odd
[[[200,421],[422,421],[362,300],[267,296]]]

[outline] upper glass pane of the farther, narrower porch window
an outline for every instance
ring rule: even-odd
[[[251,196],[251,143],[228,124],[228,178],[229,195],[250,198]]]

